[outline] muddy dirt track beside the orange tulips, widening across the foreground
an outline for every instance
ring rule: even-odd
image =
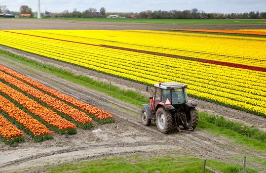
[[[48,62],[47,59],[46,61]],[[44,171],[41,170],[44,169],[42,166],[51,163],[63,164],[134,153],[176,152],[180,155],[186,154],[237,164],[241,164],[241,160],[236,159],[236,155],[266,159],[266,154],[236,144],[226,137],[212,135],[205,130],[195,130],[190,133],[173,131],[169,135],[162,134],[156,130],[154,123],[151,127],[143,126],[140,120],[132,115],[138,112],[138,108],[134,106],[4,57],[0,57],[0,64],[79,100],[107,110],[116,117],[114,124],[96,126],[93,130],[78,129],[77,134],[70,136],[55,134],[54,139],[40,143],[33,142],[27,135],[26,142],[16,147],[0,143],[0,172]],[[100,76],[97,77],[100,78]],[[124,87],[129,87],[124,85]],[[138,84],[131,84],[130,87],[134,85]],[[121,106],[124,111],[114,108],[113,104]],[[250,161],[248,166],[262,172],[266,169],[265,165],[254,161]]]

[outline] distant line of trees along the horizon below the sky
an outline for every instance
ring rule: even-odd
[[[7,10],[6,5],[0,5],[0,13]],[[37,15],[37,12],[33,12],[32,8],[27,5],[21,5],[19,12],[14,11],[13,14],[29,13],[32,16]],[[43,13],[42,13],[43,14]],[[111,14],[116,14],[122,17],[134,17],[142,19],[266,19],[266,12],[251,11],[246,13],[206,13],[199,11],[197,8],[191,10],[147,10],[141,12],[106,12],[106,8],[102,7],[97,12],[96,8],[90,7],[84,11],[77,11],[76,8],[72,12],[64,10],[59,13],[51,13],[54,17],[87,17],[87,18],[104,18]]]

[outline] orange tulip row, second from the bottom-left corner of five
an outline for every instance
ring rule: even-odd
[[[10,122],[16,124],[18,128],[24,130],[27,134],[30,134],[35,141],[53,138],[53,131],[50,131],[43,124],[38,122],[38,120],[19,109],[2,95],[0,95],[0,112]]]

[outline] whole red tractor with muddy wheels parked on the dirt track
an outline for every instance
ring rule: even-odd
[[[155,91],[150,97],[150,105],[143,104],[140,117],[142,124],[156,126],[162,133],[176,128],[190,131],[197,126],[197,103],[188,99],[187,85],[173,82],[154,84]],[[147,91],[148,91],[147,87]]]

